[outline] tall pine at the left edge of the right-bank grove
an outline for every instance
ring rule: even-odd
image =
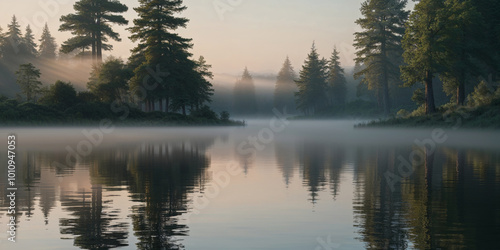
[[[355,77],[363,76],[362,82],[369,89],[376,89],[381,108],[387,115],[391,109],[389,83],[399,79],[401,39],[409,12],[407,0],[366,0],[361,5],[363,18],[356,23],[363,29],[355,33],[356,63],[364,69]]]

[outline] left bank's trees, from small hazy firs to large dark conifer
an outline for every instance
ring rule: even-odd
[[[117,0],[80,0],[73,7],[74,13],[60,18],[59,31],[71,32],[72,37],[61,44],[59,57],[91,59],[88,92],[81,93],[85,100],[135,103],[145,111],[184,115],[211,102],[211,66],[203,56],[193,59],[192,40],[176,33],[189,22],[179,16],[186,9],[182,0],[139,0],[134,8],[138,18],[127,28],[137,45],[127,62],[114,57],[103,61],[102,52],[112,49],[109,40],[121,40],[113,25],[128,24],[122,15],[128,7]],[[8,31],[0,34],[1,60],[20,65],[16,76],[24,100],[37,102],[50,96],[54,86],[42,88],[40,70],[31,63],[35,58],[57,59],[57,44],[47,25],[39,46],[29,26],[22,36],[15,16]]]

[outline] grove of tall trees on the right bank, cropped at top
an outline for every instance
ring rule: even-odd
[[[481,81],[494,91],[500,70],[500,2],[422,0],[406,11],[406,0],[367,0],[356,23],[356,76],[377,90],[384,113],[391,111],[390,85],[417,86],[414,100],[425,114],[437,112],[435,83],[456,106],[466,87]]]

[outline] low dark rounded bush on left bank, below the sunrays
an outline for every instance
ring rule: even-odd
[[[76,90],[71,83],[57,81],[51,85],[39,100],[40,104],[52,106],[59,110],[65,110],[77,104]]]

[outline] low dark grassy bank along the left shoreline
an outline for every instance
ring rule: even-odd
[[[113,112],[112,109],[115,111]],[[103,120],[123,126],[242,126],[244,122],[229,119],[229,114],[217,114],[204,107],[190,115],[164,112],[143,112],[137,108],[111,108],[104,103],[81,103],[67,109],[19,103],[0,102],[0,126],[87,126]]]

